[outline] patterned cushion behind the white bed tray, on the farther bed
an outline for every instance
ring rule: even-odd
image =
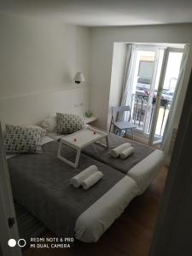
[[[56,131],[69,134],[84,129],[84,117],[73,113],[56,113]]]

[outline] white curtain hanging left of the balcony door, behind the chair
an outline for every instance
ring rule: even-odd
[[[136,45],[127,44],[127,54],[125,61],[125,76],[122,87],[120,106],[130,106],[132,99],[133,77],[134,77],[134,64],[136,59]],[[118,116],[118,120],[128,120],[129,113],[124,113]]]

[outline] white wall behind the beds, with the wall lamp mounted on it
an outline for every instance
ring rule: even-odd
[[[0,31],[3,121],[36,122],[56,109],[84,113],[89,108],[89,28],[1,15]],[[73,82],[76,72],[83,72],[86,79],[78,89]],[[81,102],[84,106],[75,108]]]

